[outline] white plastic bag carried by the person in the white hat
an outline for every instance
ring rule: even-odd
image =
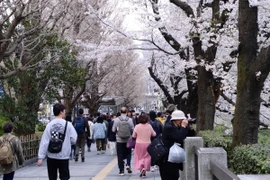
[[[186,159],[186,152],[181,147],[181,144],[174,143],[169,150],[168,162],[182,163]]]

